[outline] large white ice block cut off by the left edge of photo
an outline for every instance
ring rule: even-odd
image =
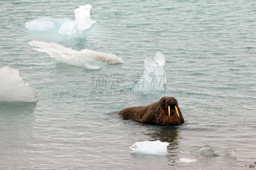
[[[19,76],[19,70],[0,68],[0,101],[36,102],[36,93]]]

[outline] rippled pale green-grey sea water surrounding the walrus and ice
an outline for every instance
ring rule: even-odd
[[[39,17],[72,18],[90,4],[97,22],[86,38],[33,31]],[[0,169],[245,169],[256,161],[256,2],[216,1],[0,1],[0,67],[18,69],[36,103],[0,102]],[[101,70],[56,63],[31,40],[73,50],[113,53],[122,64]],[[92,96],[111,88],[110,74],[143,72],[158,51],[166,57],[166,96],[179,101],[185,123],[161,127],[126,120],[117,111],[158,101],[154,96]],[[106,88],[93,88],[93,73]],[[140,155],[138,141],[168,142],[166,156]],[[203,145],[218,156],[190,151]],[[225,155],[225,148],[236,153]],[[180,158],[197,159],[180,163]],[[245,166],[247,165],[247,166]]]

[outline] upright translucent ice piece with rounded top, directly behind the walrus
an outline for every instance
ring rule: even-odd
[[[166,84],[164,64],[165,56],[161,52],[157,52],[153,59],[145,57],[144,72],[133,89],[139,91],[163,90],[164,84]]]

